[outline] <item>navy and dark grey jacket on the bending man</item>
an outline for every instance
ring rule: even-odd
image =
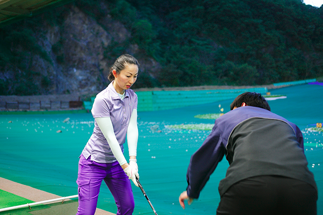
[[[300,129],[271,111],[239,107],[215,121],[211,133],[191,157],[188,196],[199,197],[224,155],[230,167],[219,184],[221,196],[234,183],[260,175],[295,178],[316,188],[307,168]]]

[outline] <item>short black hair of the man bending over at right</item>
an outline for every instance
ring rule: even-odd
[[[241,107],[242,103],[246,103],[247,106],[259,107],[271,111],[271,107],[268,102],[261,96],[260,93],[246,92],[240,94],[231,103],[230,109],[233,110],[234,107]]]

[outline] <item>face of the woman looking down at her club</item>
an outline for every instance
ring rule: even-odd
[[[117,93],[123,94],[125,90],[128,90],[137,80],[138,66],[136,64],[125,64],[125,68],[117,74],[116,70],[113,70],[115,81],[113,83]]]

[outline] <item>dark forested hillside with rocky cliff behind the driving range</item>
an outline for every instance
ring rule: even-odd
[[[76,0],[0,28],[0,95],[93,94],[116,57],[134,88],[323,76],[323,6],[302,0]]]

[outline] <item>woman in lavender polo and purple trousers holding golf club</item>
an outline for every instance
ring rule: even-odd
[[[82,151],[78,169],[77,215],[94,214],[102,180],[113,194],[117,214],[132,214],[134,198],[130,180],[138,186],[137,95],[129,88],[136,82],[139,63],[121,55],[110,68],[109,86],[96,95],[92,107],[94,130]],[[128,142],[129,164],[123,151]]]

